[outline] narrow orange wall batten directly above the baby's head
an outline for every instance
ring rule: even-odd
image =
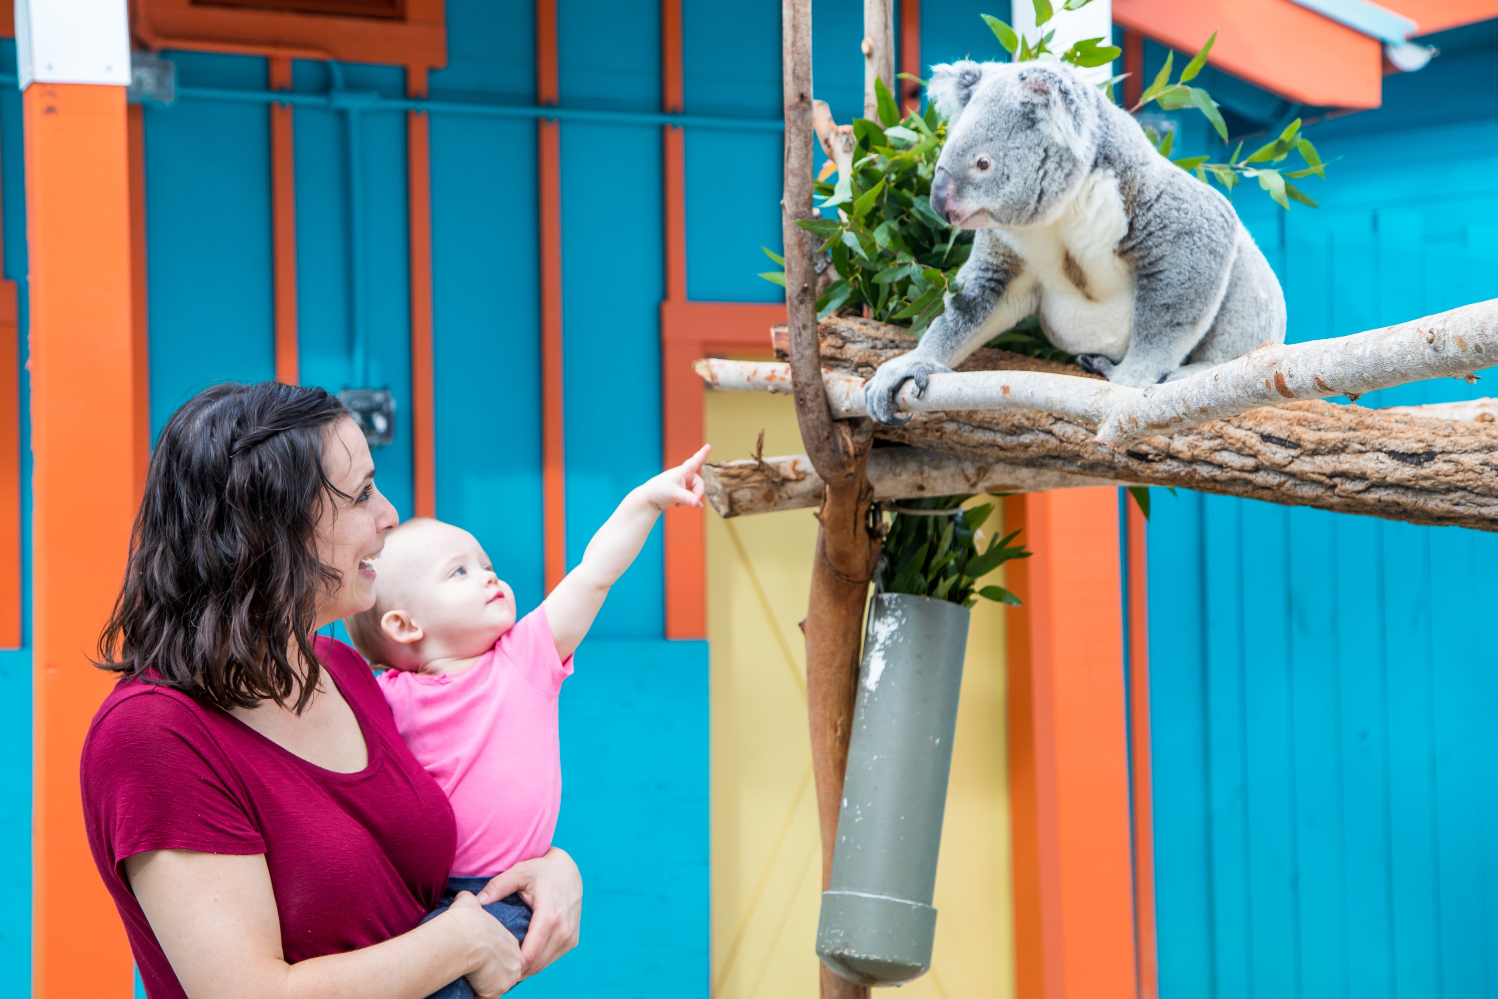
[[[427,96],[427,70],[406,70],[406,93]],[[437,515],[437,436],[434,413],[431,312],[431,120],[406,114],[406,190],[410,199],[410,452],[416,517]]]

